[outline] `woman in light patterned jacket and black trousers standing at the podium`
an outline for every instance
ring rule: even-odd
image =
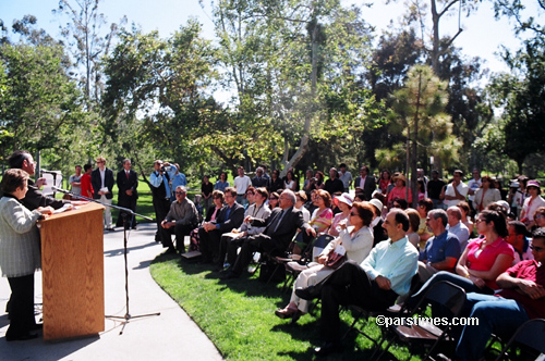
[[[28,173],[5,171],[0,188],[0,269],[11,288],[8,341],[36,338],[39,328],[34,318],[34,272],[40,267],[39,234],[36,221],[52,213],[52,208],[26,209],[20,200],[28,190]]]

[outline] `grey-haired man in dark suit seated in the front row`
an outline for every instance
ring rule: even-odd
[[[226,271],[222,278],[239,277],[250,264],[253,252],[267,252],[269,254],[282,252],[288,248],[298,228],[306,231],[313,237],[316,236],[316,231],[303,220],[303,213],[293,208],[295,200],[293,191],[286,189],[280,195],[279,207],[272,210],[267,220],[246,216],[244,222],[254,227],[265,227],[265,229],[258,235],[246,237],[237,261]]]

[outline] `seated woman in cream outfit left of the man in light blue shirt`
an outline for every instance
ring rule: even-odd
[[[299,274],[293,284],[290,303],[277,310],[275,314],[280,319],[293,318],[296,321],[299,316],[308,312],[308,302],[300,299],[295,295],[295,289],[315,285],[334,272],[334,269],[327,265],[332,260],[334,253],[344,253],[347,260],[361,263],[373,247],[373,233],[368,226],[374,217],[375,214],[370,203],[354,202],[349,212],[349,226],[347,227],[346,223],[339,225],[341,227],[339,236],[322,251],[317,265]]]

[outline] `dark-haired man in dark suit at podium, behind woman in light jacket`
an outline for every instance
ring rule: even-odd
[[[34,162],[33,155],[26,150],[15,150],[10,158],[8,158],[8,164],[10,167],[20,169],[33,176],[36,173],[36,163]],[[21,202],[28,210],[34,211],[38,207],[50,206],[53,209],[59,209],[64,203],[71,203],[69,200],[55,199],[52,197],[47,197],[41,194],[39,188],[45,184],[45,178],[37,178],[34,183],[28,178],[28,191],[25,198],[21,199]]]

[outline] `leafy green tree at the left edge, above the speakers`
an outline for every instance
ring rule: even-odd
[[[81,99],[64,59],[58,43],[0,46],[0,126],[10,135],[2,159],[15,149],[53,152],[76,140],[70,132],[83,122]]]

